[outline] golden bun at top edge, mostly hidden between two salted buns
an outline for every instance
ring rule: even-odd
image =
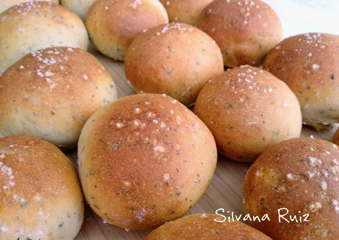
[[[194,25],[201,11],[213,0],[160,0],[168,13],[169,22]]]

